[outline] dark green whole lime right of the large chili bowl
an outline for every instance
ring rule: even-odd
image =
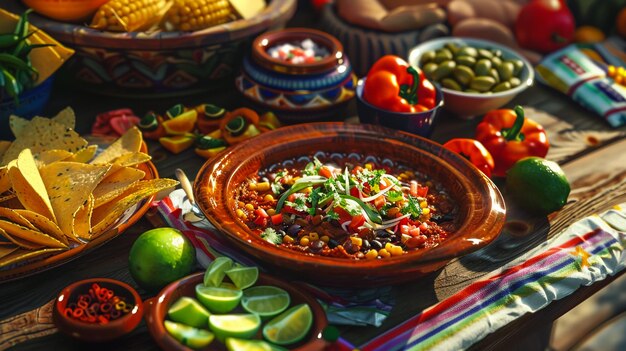
[[[507,172],[506,190],[525,210],[546,215],[565,206],[570,185],[557,163],[526,157]]]

